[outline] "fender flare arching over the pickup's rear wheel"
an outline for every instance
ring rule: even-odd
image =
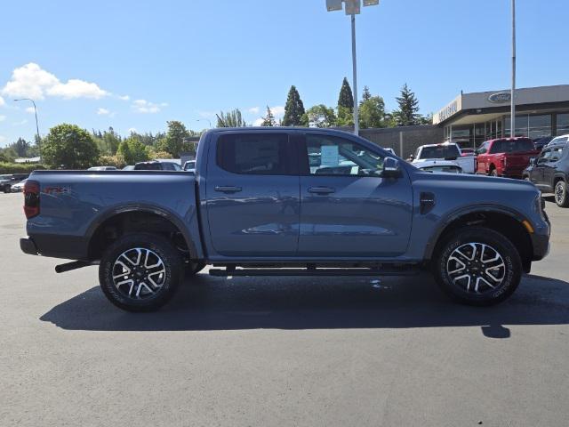
[[[172,213],[170,210],[157,205],[145,204],[145,203],[133,203],[128,205],[120,205],[108,208],[105,212],[100,214],[95,218],[94,221],[89,225],[87,231],[85,232],[85,238],[87,239],[87,245],[91,246],[91,240],[96,230],[104,222],[108,221],[110,218],[118,215],[125,214],[129,212],[143,212],[148,214],[156,214],[163,217],[165,220],[172,222],[174,226],[180,230],[186,244],[188,245],[189,254],[192,259],[197,259],[197,250],[194,239],[191,237],[188,227],[186,224],[178,217],[178,215]],[[196,213],[195,213],[196,214]]]

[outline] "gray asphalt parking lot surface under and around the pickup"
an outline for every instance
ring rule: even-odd
[[[104,298],[96,267],[20,253],[0,194],[0,425],[567,425],[569,209],[508,302],[429,276],[213,278],[163,310]]]

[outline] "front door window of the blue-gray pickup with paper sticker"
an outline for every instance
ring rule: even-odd
[[[383,157],[357,142],[326,135],[306,135],[311,175],[379,176]]]

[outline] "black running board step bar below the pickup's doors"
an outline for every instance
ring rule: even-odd
[[[419,269],[212,269],[211,276],[414,276]]]

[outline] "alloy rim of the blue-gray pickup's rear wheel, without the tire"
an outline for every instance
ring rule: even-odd
[[[156,296],[166,281],[164,261],[144,247],[133,247],[118,255],[112,274],[116,290],[133,300]]]

